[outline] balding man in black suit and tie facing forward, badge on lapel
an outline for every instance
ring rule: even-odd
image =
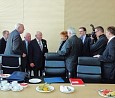
[[[47,42],[42,39],[40,31],[36,32],[35,37],[29,44],[29,62],[30,67],[34,71],[34,76],[38,76],[38,72],[40,72],[41,76],[45,63],[44,54],[48,52]]]

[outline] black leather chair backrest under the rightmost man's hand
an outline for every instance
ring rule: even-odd
[[[78,57],[77,77],[89,83],[101,82],[101,63],[94,57]]]

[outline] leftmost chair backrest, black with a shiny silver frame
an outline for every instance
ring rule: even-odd
[[[0,54],[0,63],[4,73],[12,73],[18,71],[21,65],[21,57],[19,55]]]

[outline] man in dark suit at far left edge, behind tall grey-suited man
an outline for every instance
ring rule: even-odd
[[[0,54],[4,54],[8,36],[9,36],[9,31],[4,30],[3,31],[3,37],[0,39]]]

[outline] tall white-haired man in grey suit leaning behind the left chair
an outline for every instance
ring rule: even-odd
[[[22,47],[22,39],[20,37],[20,34],[24,32],[24,25],[23,24],[16,24],[15,30],[12,31],[8,37],[6,48],[4,54],[7,55],[21,55],[22,57],[25,57],[26,54],[24,54],[23,47]]]

